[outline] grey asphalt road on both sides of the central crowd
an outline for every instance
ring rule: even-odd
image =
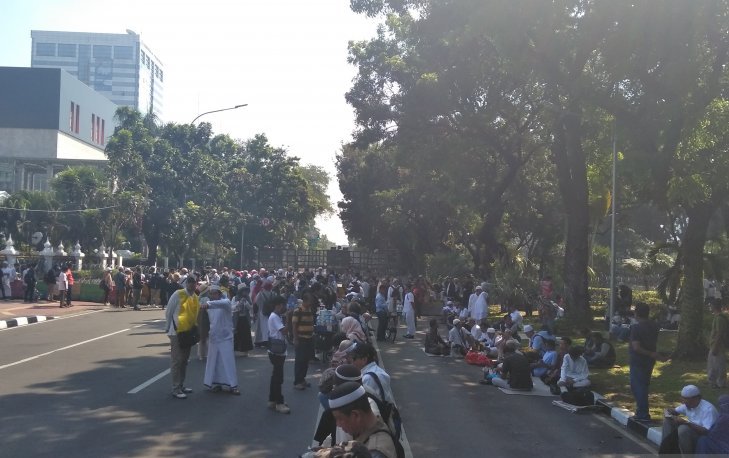
[[[161,310],[79,307],[0,331],[0,457],[296,457],[311,444],[319,405],[315,388],[293,390],[293,358],[284,383],[290,415],[266,407],[271,366],[261,350],[236,359],[242,396],[205,392],[204,363],[193,358],[186,385],[195,393],[173,399],[162,318]],[[419,344],[380,348],[414,457],[655,452],[600,415],[481,386],[478,368],[429,358]],[[310,368],[314,387],[320,370]]]

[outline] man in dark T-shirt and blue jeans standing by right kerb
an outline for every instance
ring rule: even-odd
[[[650,421],[648,413],[648,392],[653,366],[660,355],[658,346],[658,324],[649,318],[648,304],[635,306],[638,321],[630,327],[630,390],[635,398],[636,421]]]

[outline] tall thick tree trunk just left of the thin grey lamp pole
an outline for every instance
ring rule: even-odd
[[[577,325],[592,324],[587,277],[590,216],[587,158],[581,142],[579,107],[570,107],[554,123],[552,154],[567,219],[564,282],[567,312]]]

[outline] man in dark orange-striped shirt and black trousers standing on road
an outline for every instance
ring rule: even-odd
[[[301,304],[291,315],[291,329],[294,337],[296,359],[294,361],[294,388],[303,390],[310,386],[306,381],[309,361],[314,357],[314,312],[312,307],[318,300],[311,292],[301,296]]]

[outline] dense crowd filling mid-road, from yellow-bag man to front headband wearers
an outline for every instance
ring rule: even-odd
[[[117,275],[123,274],[120,270]],[[286,358],[293,352],[291,382],[298,391],[311,387],[311,361],[329,361],[318,394],[325,414],[315,439],[322,450],[355,441],[372,456],[402,456],[390,376],[379,366],[372,344],[376,332],[370,328],[374,298],[369,293],[388,295],[385,302],[396,313],[400,298],[415,302],[408,298],[415,296],[410,283],[349,273],[336,277],[323,269],[223,268],[221,274],[211,269],[183,275],[178,284],[184,287],[172,292],[165,310],[175,399],[186,399],[193,391],[185,378],[195,344],[206,362],[203,385],[233,395],[240,394],[236,352],[245,356],[254,348],[266,351],[271,363],[268,407],[281,414],[291,412],[283,395]]]

